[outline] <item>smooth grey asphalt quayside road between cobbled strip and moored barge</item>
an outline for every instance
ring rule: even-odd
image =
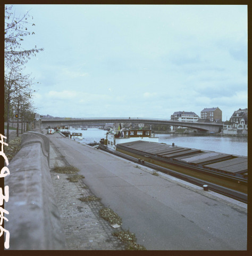
[[[48,138],[147,250],[247,249],[245,204],[169,175],[152,175],[146,167],[59,133]]]

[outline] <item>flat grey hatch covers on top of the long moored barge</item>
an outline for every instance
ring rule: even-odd
[[[234,156],[146,141],[122,143],[119,147],[148,154],[148,156],[156,156],[196,167],[203,167],[206,170],[231,175],[242,174],[245,177],[248,174],[248,158],[245,156]]]

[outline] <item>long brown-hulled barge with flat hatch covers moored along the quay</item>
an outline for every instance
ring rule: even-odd
[[[107,138],[110,136],[111,134],[108,134]],[[209,184],[209,188],[219,187],[219,190],[212,190],[223,190],[225,193],[222,194],[230,197],[232,194],[239,194],[240,201],[247,201],[248,158],[245,156],[166,145],[146,141],[143,137],[137,141],[122,142],[121,140],[116,143],[114,136],[113,149],[107,147],[107,139],[100,141],[99,148],[113,154],[122,154],[124,157],[141,159],[141,162],[159,166],[164,172],[167,170],[166,173],[181,176],[182,179],[186,177],[188,181],[191,177],[192,183],[201,181],[201,184]],[[226,193],[227,189],[229,193]],[[236,199],[239,199],[239,196]]]

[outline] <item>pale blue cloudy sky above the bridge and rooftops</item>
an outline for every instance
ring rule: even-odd
[[[248,107],[247,5],[13,5],[44,48],[33,106],[58,117],[170,119]]]

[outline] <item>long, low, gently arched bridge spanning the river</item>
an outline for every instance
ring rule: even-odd
[[[87,125],[87,124],[106,124],[106,123],[142,123],[142,124],[161,124],[161,125],[176,125],[197,129],[205,132],[218,133],[222,130],[223,124],[204,123],[204,122],[179,122],[167,119],[153,119],[153,118],[138,118],[138,117],[106,117],[106,118],[54,118],[41,119],[41,129],[51,126],[66,126],[66,125]]]

